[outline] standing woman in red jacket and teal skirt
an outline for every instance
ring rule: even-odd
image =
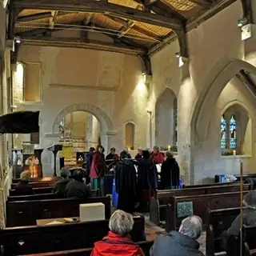
[[[91,178],[91,187],[93,190],[99,190],[100,195],[105,195],[104,188],[104,175],[105,175],[105,156],[103,146],[97,146],[93,162],[90,167],[90,178]]]

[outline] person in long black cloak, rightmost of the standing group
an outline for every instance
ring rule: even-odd
[[[161,182],[160,187],[162,190],[177,189],[179,185],[179,167],[178,162],[175,160],[174,155],[166,152],[166,161],[161,166]]]

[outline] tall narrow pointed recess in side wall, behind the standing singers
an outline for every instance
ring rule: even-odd
[[[163,148],[177,147],[178,99],[173,90],[166,88],[155,104],[155,144]]]

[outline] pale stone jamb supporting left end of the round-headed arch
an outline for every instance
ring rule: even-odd
[[[54,154],[47,148],[59,143],[59,134],[45,134],[42,140],[42,173],[43,176],[54,175]],[[59,153],[56,158],[57,176],[59,171]]]

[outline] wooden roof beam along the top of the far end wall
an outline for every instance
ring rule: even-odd
[[[121,54],[145,54],[142,49],[138,49],[133,46],[122,46],[118,43],[107,43],[98,42],[94,40],[86,40],[82,42],[81,40],[76,40],[75,38],[35,38],[27,37],[22,38],[22,46],[51,46],[51,47],[70,47],[70,48],[84,48],[90,50],[104,50],[114,53]]]

